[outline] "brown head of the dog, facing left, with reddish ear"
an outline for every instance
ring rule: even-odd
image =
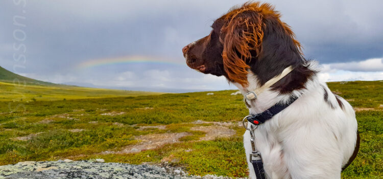
[[[266,76],[260,74],[260,78],[270,79],[294,61],[278,62],[279,56],[301,60],[299,42],[279,17],[269,4],[245,3],[233,8],[214,21],[209,35],[182,49],[186,64],[242,86],[248,85],[249,71],[256,75],[272,71]],[[260,66],[262,69],[257,69]]]

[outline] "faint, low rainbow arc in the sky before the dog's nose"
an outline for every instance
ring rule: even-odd
[[[183,60],[171,60],[158,57],[150,56],[123,56],[115,58],[102,58],[102,59],[93,59],[81,62],[76,65],[77,69],[87,69],[93,68],[95,66],[105,66],[112,64],[121,64],[121,63],[154,63],[154,64],[172,64],[172,65],[184,65]]]

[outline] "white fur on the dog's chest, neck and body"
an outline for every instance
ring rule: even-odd
[[[259,87],[257,77],[248,75],[249,87],[234,83],[244,95]],[[352,106],[342,99],[343,109],[326,83],[317,76],[290,95],[269,89],[249,104],[250,114],[261,113],[294,95],[299,98],[288,108],[255,130],[256,148],[261,153],[267,178],[341,178],[341,168],[353,153],[357,123]],[[331,108],[324,100],[324,90]],[[249,162],[250,132],[244,135],[250,178],[255,178]]]

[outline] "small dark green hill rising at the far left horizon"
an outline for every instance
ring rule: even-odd
[[[17,75],[15,73],[12,73],[12,72],[4,69],[2,66],[0,66],[0,81],[13,83],[14,80],[18,80],[22,84],[25,82],[27,84],[32,84],[32,85],[59,85],[59,84],[55,84],[55,83],[50,83],[50,82],[35,80],[32,78],[23,77],[21,75]],[[16,83],[18,83],[18,82],[16,81]]]

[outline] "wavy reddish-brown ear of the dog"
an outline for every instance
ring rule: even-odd
[[[227,24],[221,29],[221,42],[224,44],[222,58],[225,72],[230,80],[247,86],[247,74],[250,68],[247,61],[251,51],[258,56],[261,50],[262,14],[256,10],[235,12],[227,17]]]

